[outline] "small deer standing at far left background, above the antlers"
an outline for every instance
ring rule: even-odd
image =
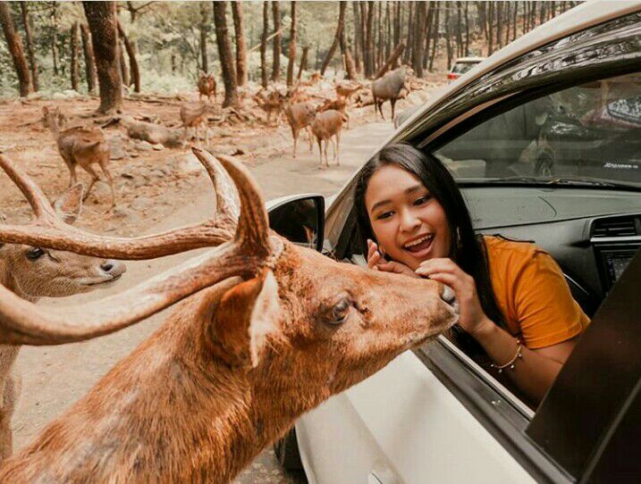
[[[69,186],[72,187],[78,182],[76,166],[89,173],[91,182],[85,193],[85,199],[89,196],[91,188],[100,177],[91,165],[98,164],[100,170],[105,173],[109,188],[111,188],[111,205],[115,206],[114,179],[107,169],[110,150],[105,139],[105,133],[99,128],[70,128],[64,129],[65,118],[63,113],[56,107],[49,110],[46,106],[42,108],[43,125],[51,130],[55,141],[58,144],[58,152],[63,157],[69,169]]]

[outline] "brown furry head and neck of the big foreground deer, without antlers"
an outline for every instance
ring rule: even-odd
[[[220,158],[242,200],[240,277],[181,303],[4,463],[0,481],[228,482],[301,413],[456,321],[453,292],[437,282],[270,233],[263,200],[241,188],[246,171]]]

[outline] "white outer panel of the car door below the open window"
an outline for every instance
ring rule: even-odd
[[[399,379],[401,374],[411,377]],[[465,407],[412,352],[330,398],[308,413],[296,431],[310,481],[318,484],[366,482],[376,464],[388,467],[399,483],[493,484],[496,475],[502,482],[535,482],[480,423],[470,421]],[[340,448],[333,441],[340,441]],[[315,445],[323,452],[316,452]],[[335,465],[345,459],[332,455],[332,448],[339,453],[350,448],[349,467]],[[484,473],[488,467],[496,475]]]

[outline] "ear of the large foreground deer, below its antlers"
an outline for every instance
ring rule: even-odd
[[[256,368],[270,334],[276,334],[281,306],[278,283],[268,269],[227,291],[215,312],[215,352],[227,363]]]

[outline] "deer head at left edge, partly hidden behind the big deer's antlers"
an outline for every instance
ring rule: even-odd
[[[80,215],[82,185],[63,193],[53,205],[60,221],[72,224]],[[2,283],[35,300],[63,297],[105,288],[118,280],[126,266],[114,260],[23,244],[0,244]]]

